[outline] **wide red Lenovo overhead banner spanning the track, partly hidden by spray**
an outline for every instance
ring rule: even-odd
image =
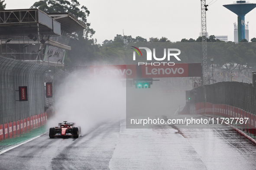
[[[201,63],[145,63],[138,65],[79,66],[90,76],[113,77],[120,79],[161,78],[161,77],[201,77]]]

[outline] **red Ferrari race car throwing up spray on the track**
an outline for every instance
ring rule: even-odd
[[[75,123],[58,123],[58,127],[52,127],[49,130],[49,137],[54,138],[55,136],[74,136],[74,138],[78,138],[79,132],[81,132],[80,126],[75,127]]]

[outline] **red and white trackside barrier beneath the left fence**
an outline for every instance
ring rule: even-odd
[[[47,115],[42,113],[15,122],[5,123],[0,125],[0,140],[19,136],[33,128],[44,125],[46,122]]]

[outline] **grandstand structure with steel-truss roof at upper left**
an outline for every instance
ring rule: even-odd
[[[65,66],[70,38],[86,25],[71,13],[39,9],[0,11],[0,55],[49,66]]]

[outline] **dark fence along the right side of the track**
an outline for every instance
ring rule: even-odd
[[[227,104],[256,114],[256,87],[243,82],[218,82],[195,88],[194,102]]]

